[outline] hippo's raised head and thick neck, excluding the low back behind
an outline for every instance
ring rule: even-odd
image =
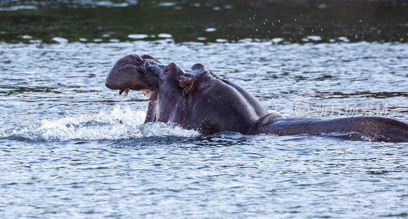
[[[163,65],[148,55],[128,55],[116,62],[105,85],[141,90],[149,99],[146,119],[175,123],[209,135],[222,131],[246,133],[266,108],[237,84],[221,79],[202,64],[183,69]]]

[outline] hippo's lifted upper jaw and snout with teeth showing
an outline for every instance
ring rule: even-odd
[[[149,55],[127,55],[119,59],[109,72],[105,85],[127,95],[129,90],[142,90],[150,96],[157,92],[159,75],[165,65]]]

